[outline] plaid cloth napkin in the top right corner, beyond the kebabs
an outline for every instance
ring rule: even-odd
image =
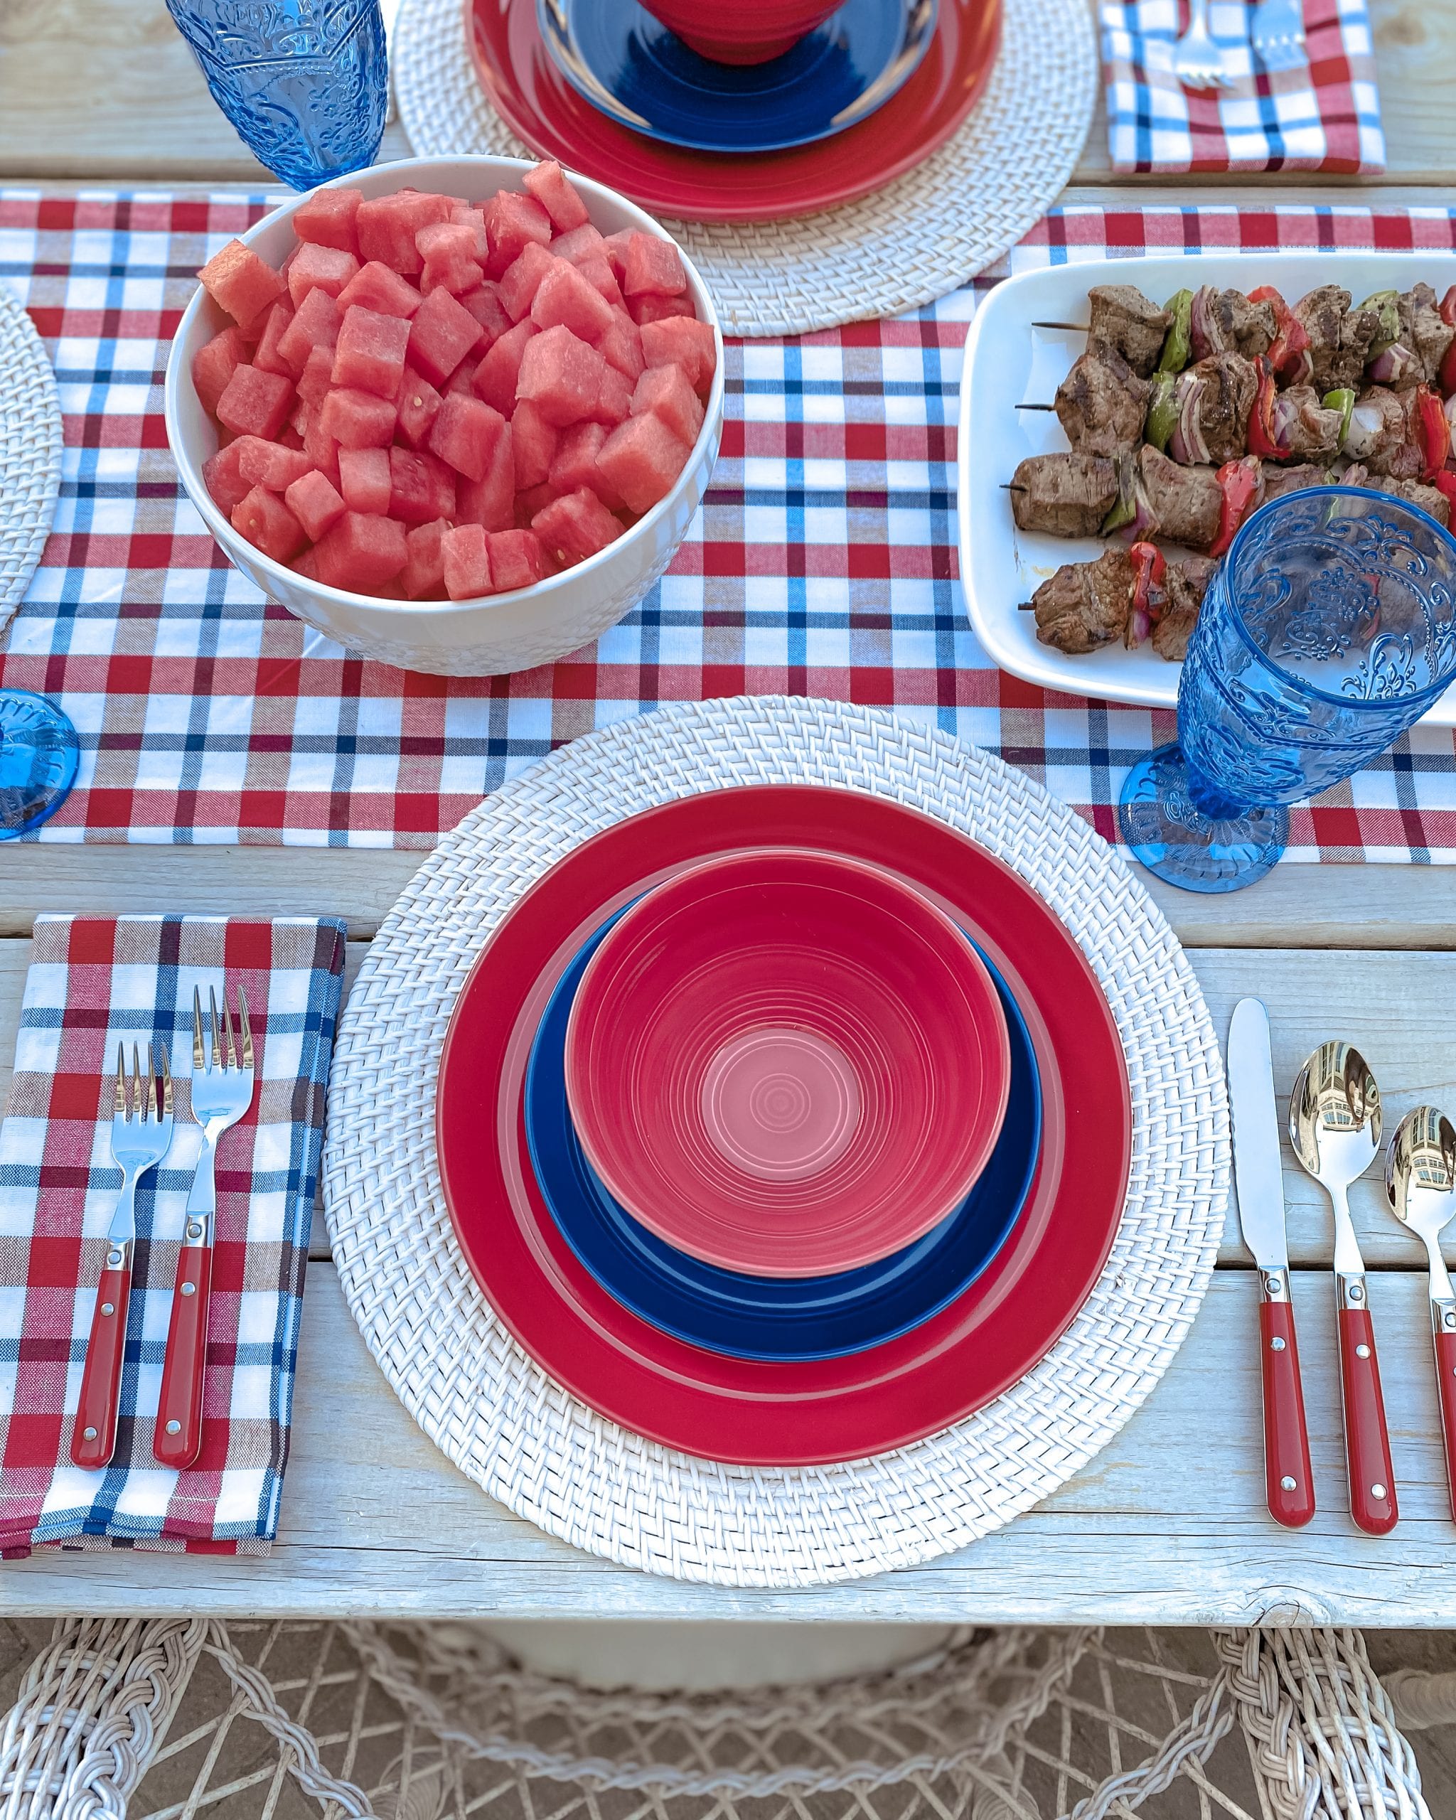
[[[1252,0],[1210,0],[1234,86],[1185,89],[1172,47],[1183,0],[1103,0],[1107,136],[1119,171],[1383,171],[1365,0],[1303,0],[1309,64],[1274,75],[1249,47]]]

